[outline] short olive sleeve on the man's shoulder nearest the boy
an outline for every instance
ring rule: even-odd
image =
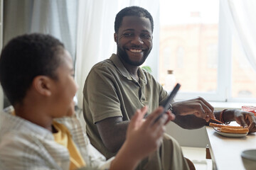
[[[113,73],[107,67],[94,67],[85,81],[85,114],[92,114],[93,123],[122,116]]]

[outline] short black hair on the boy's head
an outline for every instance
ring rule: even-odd
[[[64,45],[51,35],[40,33],[18,36],[3,48],[0,57],[0,82],[12,105],[22,103],[26,91],[38,75],[58,79],[58,53]]]

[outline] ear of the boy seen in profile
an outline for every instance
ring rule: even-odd
[[[43,96],[51,95],[51,79],[46,76],[37,76],[33,79],[32,86],[39,94]]]

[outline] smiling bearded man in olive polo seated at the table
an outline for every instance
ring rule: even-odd
[[[95,64],[85,81],[83,113],[87,135],[92,145],[107,158],[122,147],[127,126],[137,108],[148,106],[148,113],[151,113],[169,96],[151,74],[139,67],[151,52],[153,30],[153,18],[144,8],[123,8],[114,21],[117,54]],[[174,102],[171,110],[176,115],[174,123],[187,129],[201,128],[214,118],[213,106],[201,97]],[[169,118],[174,117],[169,113]],[[255,117],[250,113],[222,111],[214,114],[218,120],[237,120],[244,126],[245,118],[249,118],[247,125],[252,132],[256,130]],[[189,168],[176,140],[164,135],[161,147],[137,169]]]

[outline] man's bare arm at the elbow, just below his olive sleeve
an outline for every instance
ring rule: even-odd
[[[128,125],[129,121],[123,121],[121,116],[106,118],[96,123],[100,137],[110,152],[115,153],[122,147]]]

